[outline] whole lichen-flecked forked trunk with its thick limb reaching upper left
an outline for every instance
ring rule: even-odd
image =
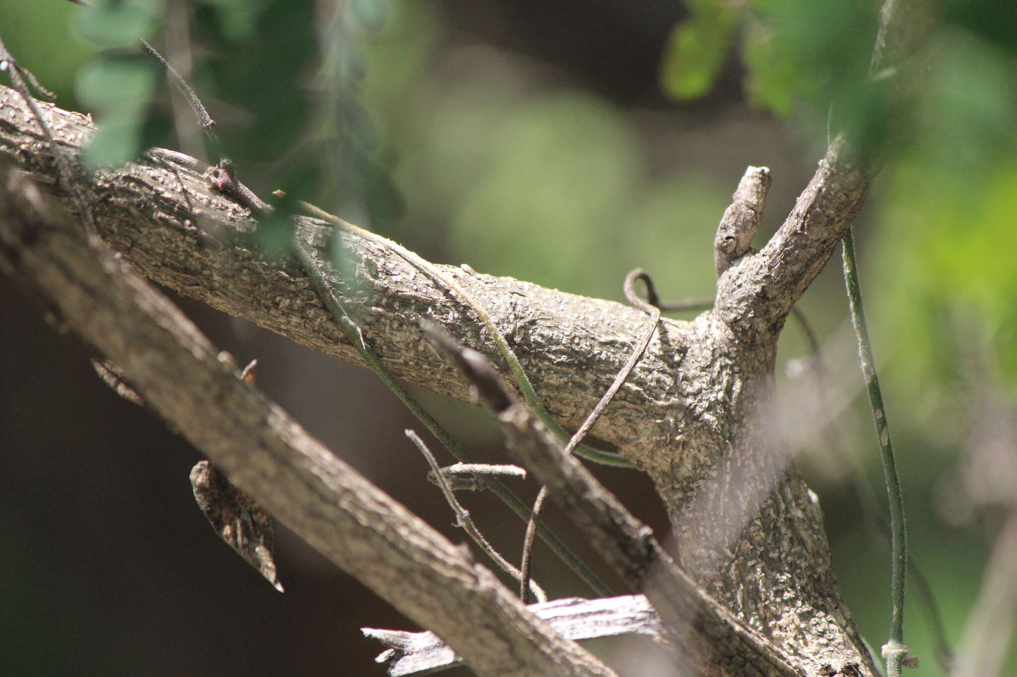
[[[73,150],[88,121],[46,107]],[[55,186],[51,152],[16,94],[0,90],[0,154]],[[671,516],[678,561],[807,674],[873,674],[837,592],[818,506],[768,410],[783,320],[856,213],[871,173],[839,172],[802,195],[767,248],[735,263],[713,312],[665,321],[594,433],[653,478]],[[838,183],[839,182],[839,183]],[[198,176],[154,161],[85,181],[105,240],[139,272],[181,293],[342,359],[360,361],[306,277],[260,261],[238,235],[249,214]],[[322,245],[328,228],[301,221]],[[782,245],[781,243],[785,243]],[[367,341],[407,381],[460,399],[469,388],[422,340],[429,317],[499,364],[470,310],[382,244],[345,233],[335,278]],[[768,253],[771,252],[771,253]],[[785,257],[782,259],[782,257]],[[441,267],[487,309],[538,395],[577,426],[624,362],[645,316],[467,267]],[[745,672],[744,674],[751,674]]]

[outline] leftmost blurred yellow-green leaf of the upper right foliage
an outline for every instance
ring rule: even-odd
[[[737,14],[717,7],[675,26],[664,48],[660,79],[678,100],[699,98],[713,88],[731,45]]]

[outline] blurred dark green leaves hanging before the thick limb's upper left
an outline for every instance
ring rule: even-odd
[[[161,32],[162,13],[159,0],[98,0],[75,19],[77,35],[104,50],[77,82],[79,98],[100,126],[84,155],[93,164],[116,164],[153,145],[172,145],[166,105],[172,85],[137,50],[139,38]],[[377,227],[400,218],[402,197],[379,162],[373,125],[358,97],[361,43],[383,27],[385,0],[348,3],[324,21],[310,0],[198,0],[192,14],[197,58],[183,75],[218,122],[218,138],[205,143],[206,159],[229,156],[248,181],[271,175],[273,188],[294,199]],[[320,43],[310,39],[316,32]],[[167,55],[179,49],[153,42]],[[276,230],[259,232],[272,257],[286,235]]]

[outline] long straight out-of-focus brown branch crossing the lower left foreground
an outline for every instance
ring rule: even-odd
[[[4,179],[6,181],[6,179]],[[0,189],[0,265],[106,355],[238,487],[485,675],[614,673],[217,358],[106,247]]]

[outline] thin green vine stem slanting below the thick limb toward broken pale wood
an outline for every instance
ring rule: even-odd
[[[301,267],[307,273],[308,277],[310,277],[311,283],[317,290],[322,302],[328,308],[333,318],[339,323],[350,339],[350,342],[360,351],[360,354],[367,361],[368,365],[370,365],[371,369],[384,382],[396,397],[413,412],[420,422],[424,424],[424,427],[437,437],[444,448],[448,450],[450,454],[463,463],[473,463],[473,457],[403,388],[402,384],[392,376],[392,373],[388,371],[388,368],[377,354],[367,346],[359,328],[353,323],[347,315],[346,309],[343,308],[342,303],[336,297],[328,280],[324,277],[317,262],[314,261],[307,246],[299,240],[295,240],[293,251]],[[521,520],[528,521],[530,519],[529,506],[507,486],[496,479],[488,480],[488,486],[494,492],[494,495],[500,498]],[[538,526],[538,533],[541,539],[547,543],[561,561],[590,586],[597,595],[601,597],[611,596],[611,589],[607,587],[607,584],[601,581],[600,577],[594,573],[593,569],[587,566],[586,562],[580,559],[553,531],[541,523]]]

